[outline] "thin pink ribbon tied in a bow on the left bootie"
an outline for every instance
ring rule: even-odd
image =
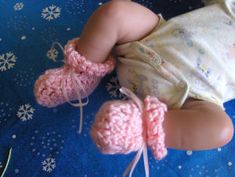
[[[58,45],[60,47],[60,49],[62,50],[63,54],[65,55],[64,53],[64,48],[62,47],[62,45],[59,43],[59,42],[54,42],[52,44],[52,48],[54,48],[55,45]],[[74,106],[74,107],[79,107],[80,109],[80,123],[79,123],[79,130],[78,130],[78,133],[81,134],[82,132],[82,125],[83,125],[83,106],[86,106],[88,103],[89,103],[89,98],[88,98],[88,94],[86,92],[86,90],[84,89],[80,79],[78,77],[75,76],[75,70],[74,68],[70,67],[68,69],[68,75],[71,75],[72,77],[72,82],[73,83],[77,83],[75,84],[75,86],[77,87],[75,89],[76,91],[76,94],[77,94],[77,99],[78,99],[78,103],[72,103],[70,100],[69,100],[69,96],[66,92],[66,89],[65,89],[65,80],[63,80],[63,83],[62,83],[62,92],[63,92],[63,96],[64,98],[66,99],[66,101],[71,105],[71,106]],[[65,76],[66,77],[66,76]],[[81,94],[80,92],[78,91],[79,88],[82,89],[83,93],[86,94],[86,101],[85,102],[82,102],[82,98],[81,98]]]

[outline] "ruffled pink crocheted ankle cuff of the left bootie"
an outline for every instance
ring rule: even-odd
[[[65,45],[65,64],[75,68],[77,73],[85,72],[97,77],[103,77],[114,69],[115,60],[112,56],[109,56],[103,63],[96,63],[80,55],[79,52],[76,51],[76,43],[78,40],[79,38],[75,38]]]

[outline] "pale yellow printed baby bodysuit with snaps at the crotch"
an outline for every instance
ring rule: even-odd
[[[223,107],[235,98],[235,0],[160,18],[151,34],[116,47],[122,86],[170,108],[188,97]]]

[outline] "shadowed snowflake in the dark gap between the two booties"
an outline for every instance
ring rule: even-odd
[[[121,86],[119,85],[118,79],[117,77],[112,77],[110,79],[110,82],[108,82],[108,84],[106,85],[106,89],[109,92],[109,94],[111,95],[111,97],[114,98],[123,98],[124,95],[119,91],[119,89],[121,88]]]

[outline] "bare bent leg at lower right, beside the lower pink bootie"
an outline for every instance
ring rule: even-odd
[[[221,147],[233,137],[233,124],[217,105],[191,100],[180,110],[169,110],[164,121],[166,146],[205,150]]]

